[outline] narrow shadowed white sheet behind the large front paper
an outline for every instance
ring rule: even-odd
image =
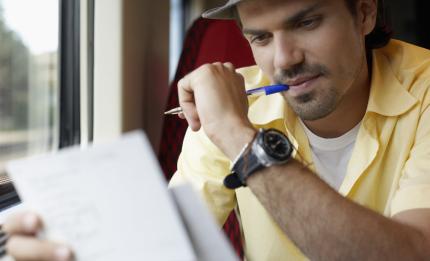
[[[172,186],[170,190],[188,230],[197,259],[204,261],[238,260],[209,210],[197,197],[191,186]]]

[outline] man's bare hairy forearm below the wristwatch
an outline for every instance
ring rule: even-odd
[[[297,161],[255,173],[247,184],[312,260],[428,258],[420,232],[345,199]]]

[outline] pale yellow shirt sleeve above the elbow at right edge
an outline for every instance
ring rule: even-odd
[[[421,114],[414,146],[391,202],[391,216],[422,208],[430,208],[430,106]]]

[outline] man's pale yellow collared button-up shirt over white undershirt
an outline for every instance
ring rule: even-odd
[[[373,51],[372,63],[367,111],[339,193],[388,217],[430,208],[430,51],[392,40]],[[256,66],[241,73],[247,88],[270,83]],[[312,162],[304,130],[280,94],[250,98],[249,119],[286,133],[295,157]],[[230,165],[203,131],[189,130],[171,184],[191,182],[219,224],[237,203],[248,260],[306,260],[249,188],[223,186]]]

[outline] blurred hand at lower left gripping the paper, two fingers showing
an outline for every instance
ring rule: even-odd
[[[22,213],[9,218],[3,230],[10,236],[6,252],[20,260],[73,260],[72,251],[66,246],[36,238],[42,221],[34,213]]]

